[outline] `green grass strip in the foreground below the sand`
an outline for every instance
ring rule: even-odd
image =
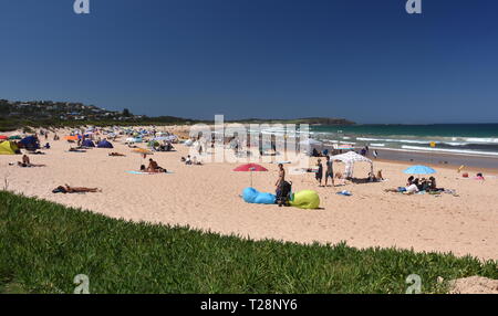
[[[257,242],[4,191],[0,201],[0,293],[73,293],[76,274],[91,293],[404,293],[413,273],[424,293],[442,293],[437,276],[498,278],[497,262],[471,257]]]

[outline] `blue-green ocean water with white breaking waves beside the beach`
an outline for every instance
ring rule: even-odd
[[[311,126],[310,130],[312,138],[325,144],[498,157],[498,124]]]

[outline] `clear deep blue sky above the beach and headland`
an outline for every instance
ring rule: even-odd
[[[0,98],[212,119],[498,122],[498,1],[0,2]]]

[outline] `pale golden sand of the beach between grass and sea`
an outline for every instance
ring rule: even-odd
[[[178,134],[178,128],[169,130]],[[59,135],[61,140],[49,140],[52,148],[44,150],[45,155],[30,155],[33,164],[46,167],[9,166],[21,156],[0,156],[1,186],[112,218],[189,225],[243,238],[299,243],[345,241],[355,247],[396,246],[498,260],[498,172],[492,169],[487,169],[486,180],[480,181],[461,178],[453,166],[435,166],[438,186],[457,192],[439,197],[384,192],[405,185],[403,162],[374,161],[375,171],[382,169],[386,181],[335,188],[319,188],[313,173],[290,175],[293,191],[311,189],[320,194],[321,209],[301,210],[246,203],[239,194],[249,187],[249,173],[232,171],[240,164],[186,166],[180,162],[180,157],[189,151],[184,145],[175,145],[177,151],[149,156],[173,173],[131,175],[126,171],[138,170],[146,160],[122,143],[124,137],[113,143],[114,149],[68,152],[70,144],[62,137],[66,134],[59,131]],[[112,151],[126,157],[110,157]],[[311,165],[315,159],[311,159]],[[269,171],[255,172],[253,187],[273,192],[277,165],[261,165]],[[336,171],[343,168],[335,165]],[[367,172],[367,165],[356,164],[356,177],[365,177]],[[475,175],[474,170],[469,172]],[[64,183],[97,187],[103,192],[52,193],[52,189]],[[340,190],[350,190],[353,196],[338,196]]]

